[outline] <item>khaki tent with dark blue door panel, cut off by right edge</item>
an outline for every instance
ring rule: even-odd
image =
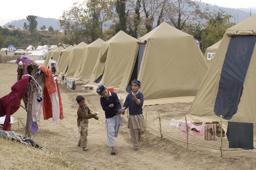
[[[222,115],[256,123],[255,30],[256,15],[226,30],[190,107],[191,120],[220,120]]]

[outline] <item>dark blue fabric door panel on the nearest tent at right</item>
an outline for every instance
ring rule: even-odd
[[[232,36],[220,73],[214,114],[230,120],[237,112],[256,36]]]

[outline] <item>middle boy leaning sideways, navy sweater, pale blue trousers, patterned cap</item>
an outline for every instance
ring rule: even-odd
[[[119,126],[124,126],[120,115],[121,104],[117,94],[115,92],[109,92],[104,85],[99,85],[96,92],[100,95],[100,105],[105,111],[108,147],[112,148],[110,154],[115,155],[115,137],[118,135]]]

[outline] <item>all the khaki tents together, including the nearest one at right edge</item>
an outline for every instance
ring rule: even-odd
[[[195,96],[188,121],[222,117],[255,123],[255,30],[253,15],[228,28],[217,48],[209,47],[204,56],[193,36],[162,23],[139,39],[120,31],[107,42],[79,44],[67,53],[62,49],[54,59],[66,76],[119,87],[118,93],[125,93],[131,80],[139,79],[145,100]],[[52,55],[47,55],[45,65]]]

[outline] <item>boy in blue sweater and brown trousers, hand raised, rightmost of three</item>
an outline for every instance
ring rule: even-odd
[[[141,135],[146,129],[144,116],[142,115],[144,97],[143,94],[139,92],[139,89],[140,81],[132,80],[132,92],[127,95],[121,109],[124,112],[124,109],[129,107],[130,116],[128,120],[128,128],[130,129],[134,151],[139,150]]]

